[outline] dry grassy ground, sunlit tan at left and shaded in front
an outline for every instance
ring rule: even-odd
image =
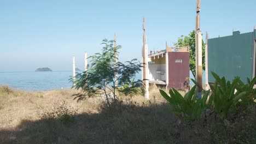
[[[75,93],[0,87],[0,143],[256,143],[255,107],[180,123],[156,88],[150,100],[120,97],[112,109],[100,98],[77,103]]]

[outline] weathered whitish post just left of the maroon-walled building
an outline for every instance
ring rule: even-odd
[[[144,88],[144,97],[149,99],[149,83],[148,83],[148,44],[146,40],[146,27],[145,27],[145,18],[143,18],[143,47],[142,47],[142,81]]]

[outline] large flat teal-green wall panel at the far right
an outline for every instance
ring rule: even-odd
[[[210,71],[230,81],[234,76],[240,76],[243,82],[246,77],[251,79],[252,48],[253,32],[208,39],[209,82],[215,80]]]

